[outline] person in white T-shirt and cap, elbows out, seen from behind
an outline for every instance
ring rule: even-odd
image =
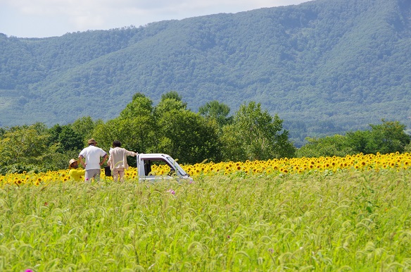
[[[96,147],[96,140],[90,139],[89,146],[84,148],[79,154],[79,161],[85,169],[84,181],[94,178],[94,181],[100,180],[101,165],[107,160],[107,153],[100,147]],[[100,158],[103,158],[101,161]],[[85,161],[84,161],[85,160]]]

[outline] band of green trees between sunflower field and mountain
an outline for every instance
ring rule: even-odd
[[[267,160],[296,156],[346,156],[355,153],[405,152],[410,136],[405,125],[385,121],[372,130],[308,138],[297,149],[284,130],[283,120],[271,116],[254,101],[230,108],[210,101],[198,109],[187,108],[177,92],[161,96],[156,106],[144,94],[134,94],[117,118],[103,122],[86,116],[67,125],[44,123],[0,128],[0,174],[54,171],[68,167],[89,138],[108,152],[113,140],[139,153],[170,154],[182,163],[202,161]],[[135,165],[135,157],[129,157]]]

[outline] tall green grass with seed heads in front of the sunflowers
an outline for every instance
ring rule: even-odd
[[[411,170],[0,187],[0,271],[411,271]]]

